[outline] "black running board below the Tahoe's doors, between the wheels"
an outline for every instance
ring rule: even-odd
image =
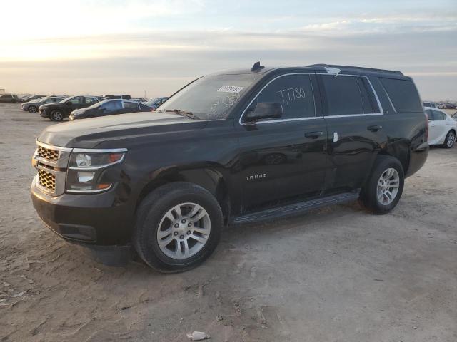
[[[352,202],[356,199],[358,199],[358,192],[344,192],[343,194],[331,195],[318,199],[312,199],[311,201],[298,202],[288,204],[283,207],[275,207],[271,209],[261,210],[260,212],[253,212],[251,214],[235,217],[232,223],[244,224],[266,221],[268,219],[278,219],[281,217],[303,214],[309,210],[327,207],[328,205],[340,204],[343,202]]]

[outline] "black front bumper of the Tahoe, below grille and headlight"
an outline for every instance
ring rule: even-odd
[[[69,242],[90,246],[130,243],[134,209],[120,202],[117,187],[99,194],[47,194],[37,177],[31,185],[31,199],[40,219]]]

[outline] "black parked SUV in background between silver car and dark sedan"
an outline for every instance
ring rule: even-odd
[[[61,121],[64,118],[68,118],[73,110],[89,107],[89,105],[99,102],[100,100],[96,96],[75,95],[59,103],[40,105],[38,110],[43,118],[49,118],[52,121]]]

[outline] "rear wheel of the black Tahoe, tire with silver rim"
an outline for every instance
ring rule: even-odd
[[[388,182],[383,183],[381,176]],[[404,182],[405,176],[401,162],[388,155],[379,155],[376,158],[373,171],[362,189],[359,202],[363,207],[371,210],[373,214],[387,214],[396,207],[400,200]],[[387,192],[391,195],[389,196]]]

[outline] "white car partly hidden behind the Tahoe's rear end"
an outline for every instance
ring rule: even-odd
[[[456,142],[457,121],[438,108],[425,107],[428,115],[428,145],[451,148]]]

